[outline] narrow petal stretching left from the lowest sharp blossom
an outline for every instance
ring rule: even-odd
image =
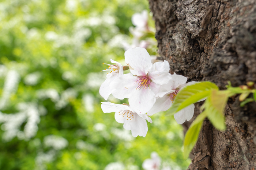
[[[115,104],[111,102],[101,102],[101,109],[104,113],[111,113],[111,112],[117,112],[117,111],[123,111],[123,110],[129,110],[132,111],[132,108],[129,105],[124,104]]]

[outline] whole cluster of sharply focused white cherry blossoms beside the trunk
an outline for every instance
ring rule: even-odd
[[[129,104],[114,104],[102,102],[104,113],[115,112],[118,123],[124,123],[124,129],[131,130],[132,136],[145,137],[148,131],[147,122],[152,123],[150,117],[159,111],[166,111],[171,106],[177,93],[187,84],[187,78],[175,73],[169,73],[170,67],[167,61],[151,63],[150,55],[144,48],[130,48],[124,53],[125,63],[110,60],[113,64],[107,64],[110,71],[107,79],[99,88],[99,94],[107,100],[112,94],[117,99],[127,98]],[[104,63],[103,63],[104,64]],[[130,69],[130,73],[124,74],[124,70]],[[182,109],[174,114],[177,123],[190,120],[194,113],[194,105]]]

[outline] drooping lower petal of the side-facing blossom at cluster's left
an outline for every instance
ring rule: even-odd
[[[110,88],[110,83],[118,77],[118,74],[113,74],[109,78],[105,80],[99,87],[99,94],[105,99],[108,100],[109,95],[112,93],[112,89]]]

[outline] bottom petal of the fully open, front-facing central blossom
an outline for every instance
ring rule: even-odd
[[[129,97],[129,104],[137,114],[145,114],[155,103],[155,94],[150,88],[139,88]]]

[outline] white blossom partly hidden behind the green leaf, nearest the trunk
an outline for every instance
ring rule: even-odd
[[[191,85],[196,82],[187,82],[186,77],[173,74],[172,79],[167,83],[163,84],[161,86],[161,89],[159,90],[157,96],[157,100],[154,104],[154,106],[148,111],[148,115],[153,115],[159,111],[166,111],[168,110],[172,104],[173,101],[178,94],[178,92],[185,87],[186,85]],[[185,120],[190,120],[193,117],[194,114],[194,104],[191,104],[184,109],[178,111],[176,114],[174,114],[174,118],[177,121],[177,123],[182,124],[185,122]]]

